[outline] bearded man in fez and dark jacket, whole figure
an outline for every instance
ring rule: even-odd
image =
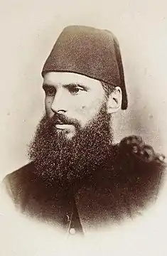
[[[14,206],[70,234],[141,213],[156,200],[166,165],[139,137],[112,142],[112,115],[127,108],[117,38],[68,26],[42,75],[45,116],[29,147],[31,161],[3,182]]]

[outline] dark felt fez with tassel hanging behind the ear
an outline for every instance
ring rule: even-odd
[[[112,32],[89,26],[68,26],[55,42],[43,66],[48,72],[71,72],[121,87],[122,110],[127,108],[122,57]]]

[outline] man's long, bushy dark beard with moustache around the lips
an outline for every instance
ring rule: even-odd
[[[72,139],[55,128],[58,119],[73,124],[76,133]],[[59,186],[75,186],[90,180],[96,169],[111,156],[112,138],[110,116],[105,106],[85,128],[81,128],[77,120],[60,114],[52,118],[44,116],[29,145],[28,157],[35,164],[37,176],[48,186],[55,182]]]

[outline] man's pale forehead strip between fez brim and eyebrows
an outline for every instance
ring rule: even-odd
[[[85,85],[88,87],[102,87],[98,80],[88,78],[85,75],[68,72],[49,72],[44,75],[43,82],[48,85],[68,85],[71,83]]]

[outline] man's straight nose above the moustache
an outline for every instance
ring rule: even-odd
[[[51,105],[53,112],[65,113],[67,112],[67,97],[62,91],[56,92],[54,100]]]

